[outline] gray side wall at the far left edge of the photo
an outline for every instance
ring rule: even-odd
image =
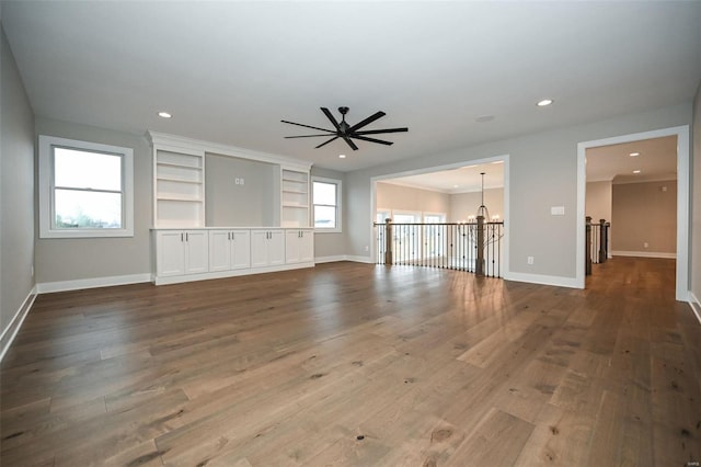
[[[0,29],[0,332],[34,288],[34,114]]]

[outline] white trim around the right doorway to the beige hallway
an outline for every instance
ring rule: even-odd
[[[584,271],[584,206],[586,198],[586,150],[599,146],[639,141],[641,139],[677,136],[677,284],[675,297],[686,301],[689,291],[689,125],[611,138],[582,141],[577,144],[577,224],[576,224],[576,282],[579,288],[585,286]]]

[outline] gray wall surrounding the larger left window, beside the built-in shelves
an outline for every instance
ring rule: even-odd
[[[150,274],[152,218],[151,150],[143,136],[36,118],[36,134],[134,149],[134,237],[87,239],[36,238],[36,282]],[[38,219],[38,208],[36,209]]]

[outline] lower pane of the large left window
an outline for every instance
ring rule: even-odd
[[[56,190],[56,228],[122,228],[122,194]]]

